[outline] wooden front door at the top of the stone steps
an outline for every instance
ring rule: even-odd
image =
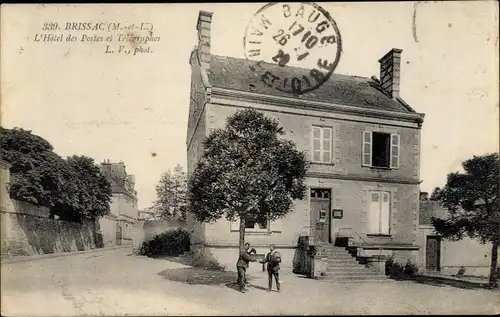
[[[311,217],[316,226],[316,238],[331,243],[330,189],[311,189]]]

